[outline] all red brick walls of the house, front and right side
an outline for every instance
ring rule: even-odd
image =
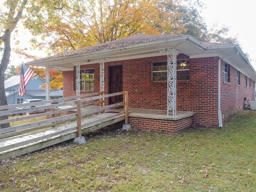
[[[188,58],[185,55],[177,59]],[[167,82],[151,81],[151,62],[167,60],[167,56],[131,59],[105,63],[105,92],[108,93],[108,67],[123,66],[123,90],[128,91],[130,108],[167,108]],[[84,65],[80,68],[94,68],[95,91],[100,89],[99,64]],[[244,97],[254,100],[254,88],[244,86],[244,74],[240,74],[240,86],[236,86],[236,70],[230,67],[230,83],[223,82],[221,66],[221,110],[224,120],[243,110]],[[74,72],[65,71],[63,78],[64,97],[76,95]],[[253,83],[252,83],[253,85]],[[81,92],[85,94],[88,92]],[[106,101],[107,102],[107,101]],[[177,110],[193,111],[193,124],[199,126],[218,125],[218,57],[191,58],[190,80],[177,81]]]

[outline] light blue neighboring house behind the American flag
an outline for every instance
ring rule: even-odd
[[[18,94],[20,76],[12,76],[11,78],[4,81],[5,94],[8,104],[20,104],[26,99],[46,99],[46,91],[39,88],[45,81],[42,78],[32,78],[27,86],[26,93],[22,97]],[[50,100],[63,98],[63,90],[56,89],[50,90]]]

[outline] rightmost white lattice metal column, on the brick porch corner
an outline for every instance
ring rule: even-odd
[[[168,48],[167,56],[167,116],[172,113],[176,117],[176,58],[178,50],[176,48]]]

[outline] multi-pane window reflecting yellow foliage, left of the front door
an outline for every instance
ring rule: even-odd
[[[76,90],[76,70],[75,70],[75,90]],[[94,90],[94,69],[80,70],[80,90]]]

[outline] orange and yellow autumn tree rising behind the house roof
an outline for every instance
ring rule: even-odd
[[[187,0],[72,0],[59,1],[44,20],[43,39],[52,53],[76,50],[134,34],[186,34],[188,27],[205,25],[196,6]],[[181,5],[181,3],[183,5]],[[199,4],[200,5],[200,4]],[[194,15],[192,21],[186,15]],[[188,25],[190,24],[190,25]],[[204,30],[203,30],[204,28]],[[200,31],[200,32],[199,32]],[[34,43],[44,48],[46,44]]]

